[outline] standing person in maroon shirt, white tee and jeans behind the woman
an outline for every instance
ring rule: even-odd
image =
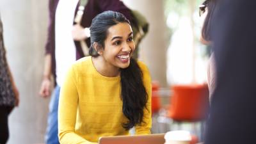
[[[49,1],[49,27],[48,38],[45,46],[44,78],[40,88],[42,97],[51,95],[51,74],[55,79],[55,88],[52,92],[49,104],[49,116],[47,120],[47,132],[45,142],[56,144],[58,141],[58,102],[60,96],[60,86],[63,75],[74,61],[84,56],[83,49],[79,41],[88,40],[88,27],[92,19],[99,13],[106,10],[113,10],[123,13],[127,19],[132,19],[131,10],[120,0],[88,0],[86,6],[79,9],[80,3],[84,1],[74,0],[50,0]],[[75,24],[75,13],[83,10],[81,24]]]

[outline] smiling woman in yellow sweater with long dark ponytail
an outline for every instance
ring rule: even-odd
[[[150,134],[151,80],[132,58],[129,20],[103,12],[92,20],[90,55],[72,65],[61,86],[60,143],[97,143],[101,136]]]

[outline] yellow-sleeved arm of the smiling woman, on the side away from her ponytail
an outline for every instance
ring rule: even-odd
[[[92,144],[75,133],[76,114],[78,105],[76,72],[73,67],[68,70],[60,90],[58,109],[58,136],[60,143]],[[95,144],[95,143],[94,143]]]

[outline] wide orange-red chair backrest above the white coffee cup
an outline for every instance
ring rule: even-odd
[[[172,86],[170,117],[178,121],[204,120],[209,109],[209,90],[206,84]]]

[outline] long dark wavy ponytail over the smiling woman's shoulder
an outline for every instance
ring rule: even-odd
[[[146,108],[148,95],[143,84],[143,73],[136,60],[131,58],[130,65],[121,69],[123,113],[129,122],[125,129],[131,129],[143,122],[143,109]]]

